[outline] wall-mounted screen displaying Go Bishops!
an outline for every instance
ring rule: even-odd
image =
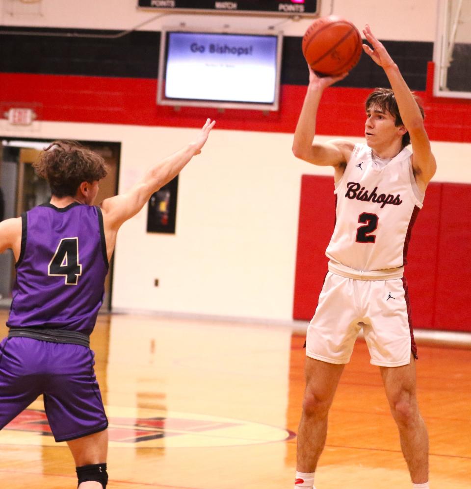
[[[278,110],[281,32],[162,30],[157,103]]]

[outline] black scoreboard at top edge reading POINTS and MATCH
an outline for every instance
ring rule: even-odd
[[[195,3],[198,6],[195,6]],[[320,0],[138,0],[138,8],[175,13],[224,13],[313,17]]]

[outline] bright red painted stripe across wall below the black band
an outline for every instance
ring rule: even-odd
[[[471,100],[434,98],[433,63],[429,63],[424,102],[431,140],[471,142]],[[188,79],[191,82],[191,78]],[[317,133],[363,136],[364,102],[370,89],[328,88],[318,111]],[[156,103],[157,81],[146,78],[0,73],[1,108],[10,102],[39,105],[44,121],[101,122],[171,127],[199,127],[207,117],[220,129],[292,133],[306,87],[283,85],[281,109],[258,110],[173,107]]]

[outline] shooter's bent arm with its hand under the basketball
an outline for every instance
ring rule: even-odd
[[[340,167],[348,160],[354,146],[353,143],[346,140],[332,140],[321,144],[313,140],[317,109],[324,90],[343,79],[348,73],[340,76],[319,77],[309,65],[308,69],[309,86],[294,132],[293,154],[296,158],[314,165]]]

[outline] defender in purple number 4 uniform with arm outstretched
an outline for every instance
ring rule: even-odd
[[[105,488],[108,421],[89,336],[103,302],[120,226],[201,153],[215,122],[152,167],[129,192],[93,205],[104,160],[54,141],[34,164],[51,201],[0,222],[0,253],[16,258],[16,283],[0,344],[0,429],[40,394],[56,441],[67,441],[79,489]]]

